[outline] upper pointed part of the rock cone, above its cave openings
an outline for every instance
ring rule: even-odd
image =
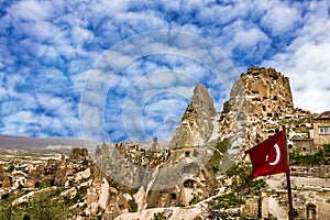
[[[202,146],[213,131],[217,111],[206,86],[198,84],[194,89],[191,102],[187,107],[180,124],[170,141],[170,148]]]

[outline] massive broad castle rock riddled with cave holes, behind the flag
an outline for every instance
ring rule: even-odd
[[[292,112],[289,79],[273,68],[251,67],[233,85],[230,99],[223,105],[219,117],[220,139],[231,139],[229,154],[240,155],[244,148],[267,139],[271,127],[273,133],[279,128],[276,122],[267,124],[265,121]]]

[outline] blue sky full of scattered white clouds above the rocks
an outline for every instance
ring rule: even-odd
[[[194,86],[218,111],[250,66],[330,110],[329,1],[0,3],[0,133],[168,140]],[[101,128],[100,128],[101,127]]]

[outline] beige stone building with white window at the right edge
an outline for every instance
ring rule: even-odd
[[[320,113],[314,119],[314,145],[330,144],[330,111]]]

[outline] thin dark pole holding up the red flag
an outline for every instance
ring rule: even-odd
[[[284,150],[285,150],[285,173],[286,173],[286,184],[287,184],[287,195],[289,200],[289,220],[294,220],[294,205],[293,205],[293,195],[292,195],[292,182],[290,182],[290,168],[289,168],[289,151],[287,147],[286,141],[286,129],[285,125],[282,125],[283,135],[284,135]]]

